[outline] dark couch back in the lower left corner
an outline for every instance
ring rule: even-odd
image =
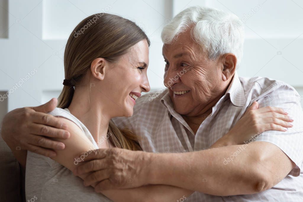
[[[24,180],[21,179],[18,161],[0,134],[0,201],[21,202],[24,197]]]

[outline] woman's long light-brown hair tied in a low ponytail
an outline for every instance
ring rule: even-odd
[[[117,61],[139,41],[150,41],[134,22],[118,15],[99,13],[80,22],[69,36],[64,52],[65,79],[77,87],[95,58]],[[58,97],[58,108],[68,108],[74,95],[73,86],[63,86]],[[138,137],[128,128],[120,130],[109,122],[108,140],[118,148],[141,150]]]

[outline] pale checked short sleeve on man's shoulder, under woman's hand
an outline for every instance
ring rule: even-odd
[[[266,106],[282,108],[294,119],[293,127],[287,131],[265,131],[255,141],[270,142],[279,147],[296,164],[289,175],[299,176],[303,159],[303,112],[298,92],[285,84],[260,98],[258,103],[259,108]]]

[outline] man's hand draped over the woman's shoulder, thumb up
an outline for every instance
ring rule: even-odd
[[[47,138],[66,139],[70,136],[65,131],[65,124],[58,121],[58,118],[45,114],[54,110],[56,105],[57,99],[53,98],[38,107],[18,108],[5,115],[2,121],[2,138],[12,151],[28,150],[54,157],[56,153],[52,149],[64,149],[62,142]]]

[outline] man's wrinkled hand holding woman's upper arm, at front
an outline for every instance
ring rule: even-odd
[[[96,192],[140,187],[147,184],[149,158],[149,153],[142,151],[98,149],[81,154],[78,160],[84,162],[73,173],[77,176],[91,173],[85,177],[84,185],[94,184]]]

